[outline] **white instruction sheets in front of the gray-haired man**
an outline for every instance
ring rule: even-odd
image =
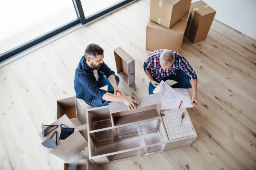
[[[169,91],[171,91],[171,93]],[[167,92],[167,93],[165,93],[165,92]],[[189,93],[186,90],[186,88],[173,89],[169,85],[167,85],[166,82],[164,82],[162,80],[160,82],[160,85],[158,85],[154,89],[153,93],[159,93],[163,100],[161,110],[177,109],[177,108],[179,108],[179,106],[180,106],[180,108],[192,108],[193,107],[193,105],[190,104],[191,99],[189,97]],[[168,97],[170,96],[169,99],[167,99],[165,97],[165,95],[168,93],[172,94],[172,95],[168,95]],[[174,97],[174,99],[172,99],[172,97]],[[181,102],[181,105],[180,105],[180,102]]]

